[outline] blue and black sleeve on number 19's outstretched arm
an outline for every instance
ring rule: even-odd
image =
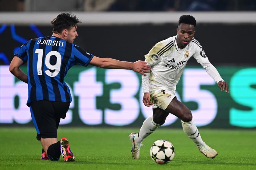
[[[87,53],[85,50],[83,50],[77,45],[74,45],[73,51],[75,64],[83,66],[87,66],[89,62],[92,60],[92,57],[94,56],[93,54]]]

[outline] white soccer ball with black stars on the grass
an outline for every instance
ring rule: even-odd
[[[173,160],[175,150],[173,144],[167,140],[158,140],[150,148],[152,160],[159,164],[167,164]]]

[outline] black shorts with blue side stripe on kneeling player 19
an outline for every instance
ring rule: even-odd
[[[61,118],[66,117],[70,103],[39,100],[31,102],[30,112],[36,128],[37,140],[57,138],[57,129]]]

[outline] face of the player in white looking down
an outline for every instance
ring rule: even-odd
[[[181,23],[177,28],[177,45],[186,47],[195,35],[195,26]]]

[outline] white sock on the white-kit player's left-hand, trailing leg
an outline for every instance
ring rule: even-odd
[[[140,144],[146,137],[148,137],[148,135],[153,133],[159,126],[161,125],[153,121],[153,116],[148,117],[146,120],[144,120],[141,128],[139,129],[138,138],[135,138],[135,141]]]

